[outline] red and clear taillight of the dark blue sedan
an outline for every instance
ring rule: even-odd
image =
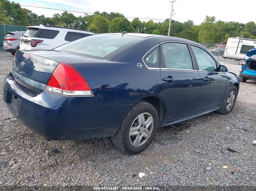
[[[52,73],[46,91],[68,96],[91,96],[91,88],[85,78],[71,65],[61,62]]]

